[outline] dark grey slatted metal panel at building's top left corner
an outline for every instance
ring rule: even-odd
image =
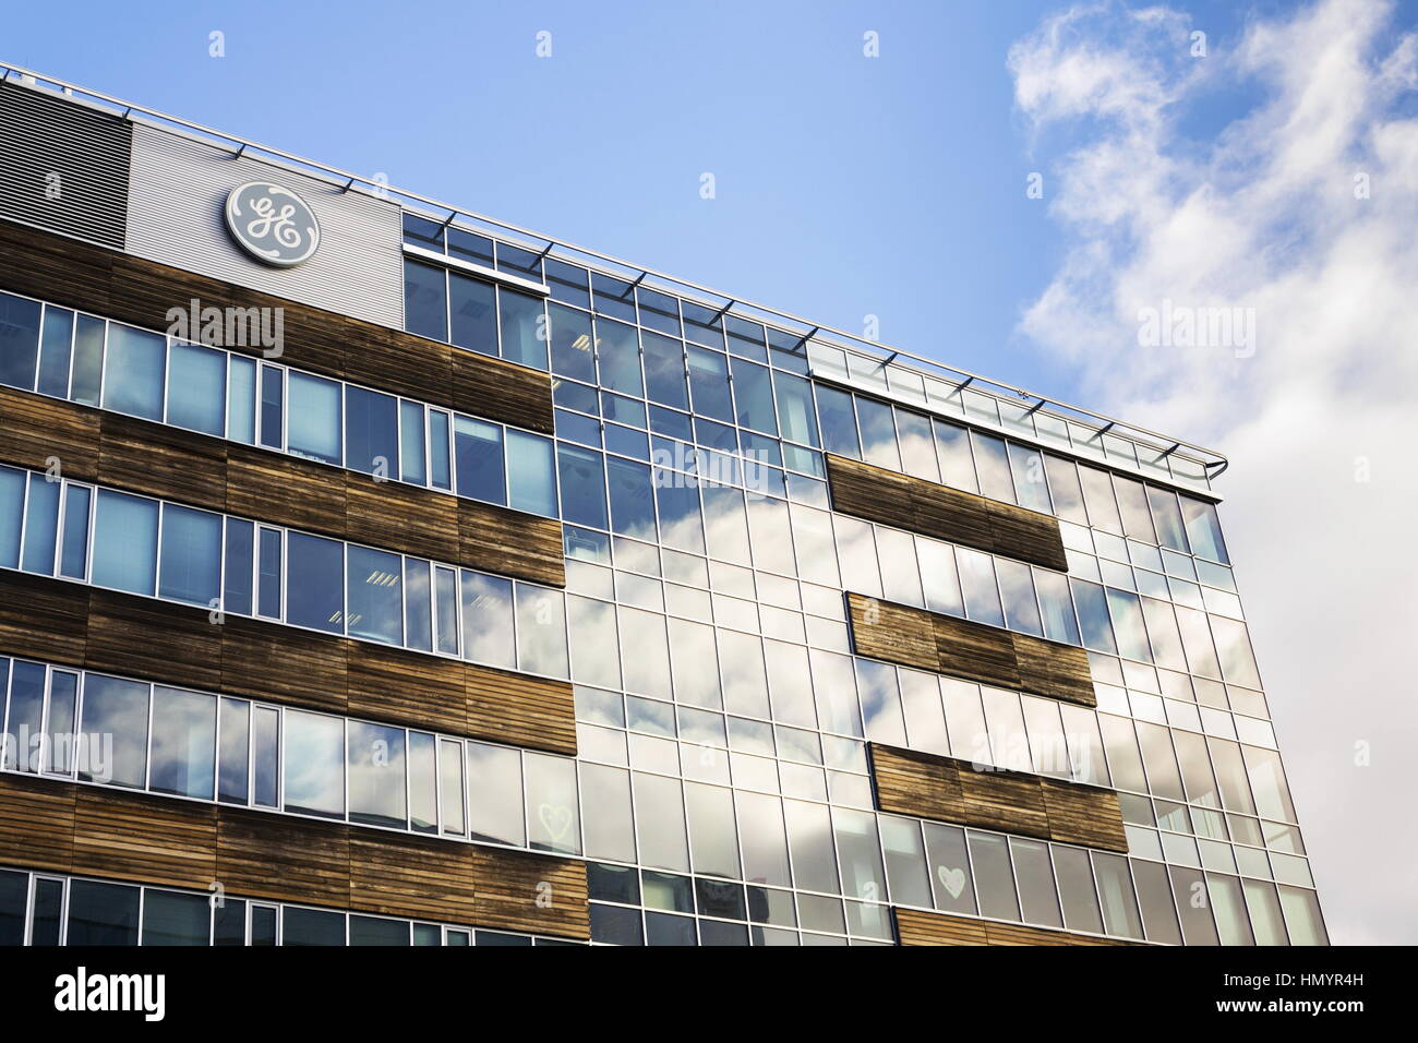
[[[132,125],[41,88],[0,85],[0,217],[123,247]]]

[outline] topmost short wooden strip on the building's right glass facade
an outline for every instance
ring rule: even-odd
[[[828,454],[832,509],[990,553],[1068,569],[1055,518]]]

